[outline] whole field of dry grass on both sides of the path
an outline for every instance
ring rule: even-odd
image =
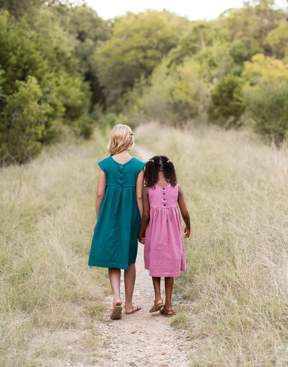
[[[191,215],[174,324],[199,345],[192,366],[288,366],[288,149],[207,127],[136,137],[173,160]],[[0,366],[97,363],[109,288],[87,259],[105,140],[0,170]]]

